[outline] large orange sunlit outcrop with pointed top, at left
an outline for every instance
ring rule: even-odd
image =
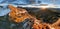
[[[23,22],[25,19],[30,18],[30,15],[25,9],[16,8],[14,6],[9,5],[11,12],[9,16],[13,18],[12,20],[15,22]]]

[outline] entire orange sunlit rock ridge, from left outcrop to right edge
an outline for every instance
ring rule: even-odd
[[[14,22],[23,22],[25,19],[29,18],[32,19],[34,22],[32,28],[33,29],[60,29],[60,19],[53,23],[53,24],[47,24],[44,22],[41,22],[41,20],[36,19],[36,17],[31,16],[25,9],[22,8],[16,8],[14,6],[9,5],[9,8],[11,12],[9,13],[9,16],[11,20]],[[43,10],[46,10],[46,8],[42,8]],[[32,21],[31,20],[31,21]]]

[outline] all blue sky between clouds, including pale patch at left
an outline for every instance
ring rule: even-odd
[[[52,4],[51,0],[39,0],[39,1],[41,1],[41,3]],[[12,4],[27,4],[28,2],[29,2],[29,0],[0,0],[0,5],[3,3],[3,7],[6,8],[6,6],[9,3],[12,3]],[[55,4],[60,6],[60,0],[56,0]],[[2,8],[2,9],[0,8],[0,16],[4,16],[4,15],[6,15],[10,12],[9,9],[4,9],[4,8]]]

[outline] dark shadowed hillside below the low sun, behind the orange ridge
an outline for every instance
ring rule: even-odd
[[[46,10],[42,10],[41,8],[25,8],[31,15],[36,16],[36,18],[40,18],[43,22],[46,23],[54,23],[58,20],[60,13],[56,11],[54,8],[47,8]],[[56,9],[59,10],[59,9]]]

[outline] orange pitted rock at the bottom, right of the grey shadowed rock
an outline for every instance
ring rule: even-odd
[[[33,29],[50,29],[50,27],[51,26],[49,24],[41,23],[38,20],[35,20],[33,24]]]

